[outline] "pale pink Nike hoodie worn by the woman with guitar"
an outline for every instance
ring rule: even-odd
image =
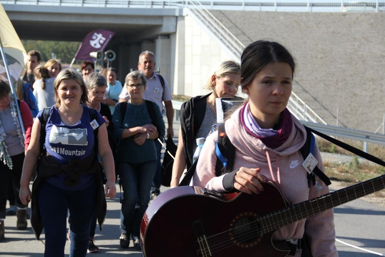
[[[269,149],[259,139],[247,134],[240,121],[238,109],[225,123],[226,133],[236,148],[234,168],[260,168],[261,174],[274,181],[288,203],[297,204],[302,201],[329,193],[329,188],[316,176],[320,192],[316,187],[309,187],[306,170],[302,167],[303,158],[299,150],[305,142],[306,131],[303,125],[293,116],[293,128],[287,141],[276,149]],[[192,177],[192,185],[226,192],[223,187],[223,176],[215,176],[216,142],[218,134],[207,137],[200,154],[197,170]],[[270,171],[267,155],[271,161]],[[322,159],[318,146],[314,150],[318,160],[318,168],[323,171]],[[263,207],[261,207],[263,208]],[[338,256],[335,247],[335,231],[333,210],[325,211],[287,225],[276,231],[274,240],[290,240],[302,238],[306,223],[306,233],[310,238],[313,256]],[[301,250],[295,256],[301,256]]]

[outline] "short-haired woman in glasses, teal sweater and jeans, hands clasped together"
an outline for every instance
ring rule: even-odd
[[[120,246],[128,248],[129,236],[140,247],[140,223],[150,200],[150,189],[157,168],[155,140],[165,133],[158,105],[143,99],[146,78],[141,71],[130,72],[125,79],[128,102],[115,106],[114,134],[120,139],[118,157],[123,187]],[[139,208],[136,208],[136,206]]]

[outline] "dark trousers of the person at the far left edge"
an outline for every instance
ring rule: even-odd
[[[5,207],[7,205],[9,178],[12,177],[15,203],[17,207],[26,208],[23,205],[18,193],[20,191],[20,178],[22,176],[24,153],[11,156],[13,168],[10,170],[3,161],[0,161],[0,218],[5,218]]]

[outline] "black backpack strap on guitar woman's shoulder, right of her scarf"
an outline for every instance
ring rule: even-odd
[[[315,140],[316,140],[310,128],[305,126],[305,129],[306,129],[306,141],[305,141],[305,144],[300,149],[303,160],[305,160],[310,153],[314,154],[314,146],[315,146]],[[326,186],[329,186],[332,183],[329,177],[326,176],[326,174],[323,173],[316,166],[313,172],[307,173],[307,180],[309,180],[309,182],[312,182],[313,186],[316,185],[315,175],[317,175],[325,183]]]

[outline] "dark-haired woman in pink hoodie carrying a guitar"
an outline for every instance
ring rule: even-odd
[[[276,42],[257,41],[244,49],[241,86],[249,97],[225,122],[226,136],[235,146],[233,172],[216,175],[216,144],[223,135],[213,133],[200,154],[192,178],[194,186],[264,195],[264,185],[270,182],[290,204],[329,192],[317,176],[316,186],[306,178],[315,166],[323,171],[323,164],[316,143],[313,154],[305,160],[300,153],[306,130],[286,108],[294,71],[292,55]],[[267,206],[278,200],[269,194],[264,197],[271,197],[265,202]],[[309,241],[304,243],[306,239]],[[337,256],[333,210],[281,227],[273,234],[273,241],[286,241],[289,254],[294,256]]]

